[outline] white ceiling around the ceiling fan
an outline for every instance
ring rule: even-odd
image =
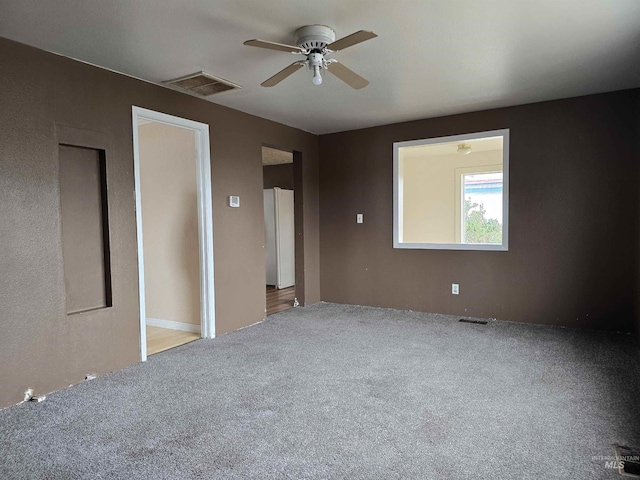
[[[303,25],[378,38],[333,56],[371,84],[247,47]],[[640,86],[639,0],[0,0],[0,36],[153,83],[204,70],[243,86],[210,101],[329,133]]]

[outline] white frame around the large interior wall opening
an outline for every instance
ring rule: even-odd
[[[502,137],[502,244],[488,243],[408,243],[402,241],[403,230],[403,187],[400,171],[400,149],[421,145],[433,145],[439,143],[463,143],[469,140],[477,140],[488,137]],[[454,172],[455,174],[455,172]],[[459,200],[459,199],[458,199]],[[451,199],[454,207],[458,203]],[[456,210],[457,211],[457,210]],[[393,248],[413,250],[470,250],[470,251],[509,251],[509,129],[488,130],[483,132],[450,135],[446,137],[432,137],[406,142],[393,143]]]

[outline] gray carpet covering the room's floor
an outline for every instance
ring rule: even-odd
[[[318,304],[0,411],[0,478],[603,479],[631,335]]]

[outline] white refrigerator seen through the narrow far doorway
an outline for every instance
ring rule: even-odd
[[[266,284],[287,288],[296,282],[293,190],[264,190]]]

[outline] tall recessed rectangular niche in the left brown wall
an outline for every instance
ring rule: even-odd
[[[111,306],[105,152],[59,146],[67,313]]]

